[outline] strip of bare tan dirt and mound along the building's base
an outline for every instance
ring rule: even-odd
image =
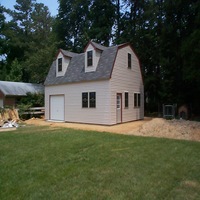
[[[145,118],[114,126],[50,122],[44,119],[32,118],[25,121],[26,124],[48,125],[54,127],[66,127],[79,130],[92,130],[100,132],[112,132],[118,134],[163,137],[182,140],[200,141],[200,122],[186,120],[165,120],[162,118]]]

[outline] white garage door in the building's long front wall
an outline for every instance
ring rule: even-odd
[[[64,121],[64,95],[50,97],[50,119]]]

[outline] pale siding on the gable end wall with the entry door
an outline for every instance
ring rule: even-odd
[[[131,52],[131,69],[128,66],[127,55]],[[111,119],[116,123],[116,93],[122,93],[122,122],[144,118],[143,105],[143,80],[140,72],[139,61],[132,49],[127,46],[118,50],[112,77],[111,88]],[[125,108],[125,92],[128,91],[128,108]],[[140,108],[134,108],[134,93],[141,94]]]

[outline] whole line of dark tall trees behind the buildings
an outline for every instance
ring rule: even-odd
[[[148,112],[186,104],[200,113],[200,1],[58,0],[58,15],[35,0],[0,5],[0,80],[43,83],[58,48],[89,40],[130,42],[141,63]],[[7,19],[6,16],[9,16]]]

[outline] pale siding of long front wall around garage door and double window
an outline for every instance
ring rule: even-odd
[[[82,93],[96,93],[96,107],[82,108]],[[48,120],[50,95],[63,93],[65,96],[65,121],[93,124],[110,124],[109,81],[82,82],[45,87],[45,119]],[[88,94],[89,101],[89,94]],[[110,124],[111,125],[111,124]]]

